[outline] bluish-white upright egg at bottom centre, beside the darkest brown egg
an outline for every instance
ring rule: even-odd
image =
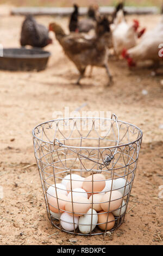
[[[91,222],[92,222],[92,228],[91,228]],[[79,217],[78,227],[80,232],[82,234],[89,234],[90,231],[95,229],[97,222],[98,222],[97,212],[94,209],[89,209],[85,215]]]

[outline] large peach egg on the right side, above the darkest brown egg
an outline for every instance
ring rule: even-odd
[[[111,193],[111,198],[110,198],[110,193]],[[109,200],[110,200],[110,206],[109,206]],[[111,192],[107,192],[102,196],[101,208],[104,211],[114,211],[118,209],[121,204],[122,204],[122,194],[119,191],[114,190]]]

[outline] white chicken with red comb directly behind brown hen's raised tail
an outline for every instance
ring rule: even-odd
[[[140,36],[137,33],[139,21],[134,20],[134,24],[128,24],[123,10],[119,10],[114,23],[110,27],[112,31],[112,44],[117,56],[120,56],[123,48],[129,49],[136,45],[137,38]]]

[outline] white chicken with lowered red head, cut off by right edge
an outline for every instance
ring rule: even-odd
[[[158,25],[151,31],[146,32],[142,36],[139,44],[129,50],[124,49],[122,56],[127,59],[129,66],[135,66],[139,60],[153,60],[158,67],[160,61],[162,61],[162,49],[159,50],[159,46],[163,42],[163,16]],[[159,54],[161,53],[161,54]]]

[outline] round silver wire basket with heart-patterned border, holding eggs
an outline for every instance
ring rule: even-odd
[[[109,118],[65,118],[33,129],[48,218],[60,230],[98,235],[119,227],[133,186],[142,131]]]

